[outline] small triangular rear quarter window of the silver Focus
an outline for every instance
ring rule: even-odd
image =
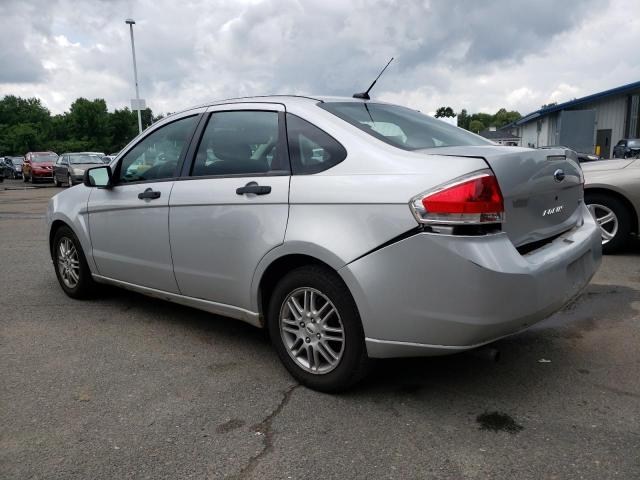
[[[287,136],[295,175],[322,172],[347,156],[347,151],[333,137],[290,113],[287,113]]]

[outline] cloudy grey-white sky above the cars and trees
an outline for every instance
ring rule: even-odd
[[[269,93],[527,113],[640,80],[638,0],[0,0],[0,95],[141,96],[154,112]]]

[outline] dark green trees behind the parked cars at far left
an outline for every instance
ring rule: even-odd
[[[162,116],[142,111],[142,128]],[[109,112],[101,99],[76,99],[68,112],[52,115],[38,98],[0,100],[0,156],[27,152],[118,152],[138,134],[138,114],[127,107]]]

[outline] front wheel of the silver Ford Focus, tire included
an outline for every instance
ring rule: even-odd
[[[72,298],[90,297],[95,282],[80,242],[69,227],[60,227],[56,231],[52,256],[62,290]]]

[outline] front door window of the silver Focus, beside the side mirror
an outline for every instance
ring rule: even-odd
[[[174,177],[196,119],[197,115],[181,118],[142,139],[122,157],[117,174],[118,183]]]

